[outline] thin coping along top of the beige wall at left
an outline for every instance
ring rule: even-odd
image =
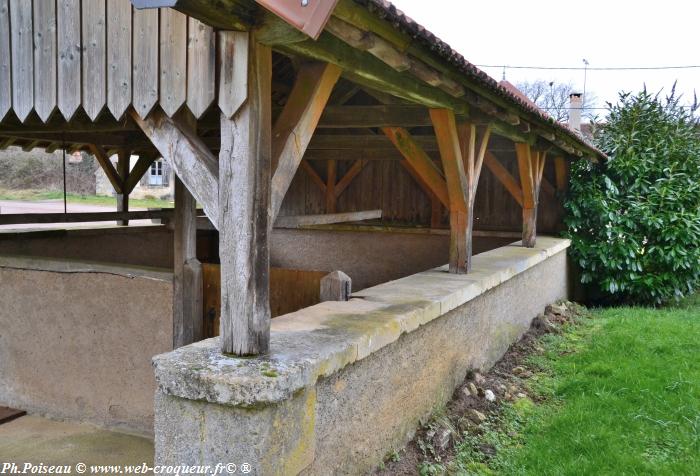
[[[0,268],[47,271],[51,273],[112,274],[125,278],[145,278],[168,282],[173,280],[172,271],[165,268],[23,255],[0,255]]]

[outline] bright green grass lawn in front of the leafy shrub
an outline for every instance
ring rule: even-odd
[[[505,409],[477,473],[700,475],[700,296],[593,314],[545,338],[529,384],[543,403]]]

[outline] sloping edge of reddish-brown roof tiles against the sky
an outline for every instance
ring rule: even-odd
[[[502,81],[500,84],[494,78],[486,74],[484,71],[476,67],[474,64],[467,61],[464,56],[454,50],[450,45],[435,36],[432,32],[420,25],[401,10],[396,8],[387,0],[354,0],[355,3],[364,6],[370,12],[379,18],[390,22],[395,28],[402,30],[410,35],[413,39],[421,42],[423,46],[435,52],[444,61],[456,67],[469,80],[483,86],[488,91],[495,95],[506,99],[513,103],[516,107],[527,114],[535,115],[542,121],[552,125],[566,134],[573,137],[576,141],[582,143],[586,147],[597,152],[601,157],[606,158],[604,152],[591,144],[586,138],[570,129],[567,124],[556,121],[552,116],[537,107],[537,105],[529,100],[522,92],[507,81]]]

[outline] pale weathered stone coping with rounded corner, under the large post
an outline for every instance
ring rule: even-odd
[[[469,274],[449,274],[445,265],[364,289],[346,302],[277,317],[268,355],[224,355],[219,338],[157,355],[158,386],[169,395],[240,407],[288,400],[319,377],[371,355],[569,244],[550,237],[538,237],[534,248],[517,242],[474,256]]]

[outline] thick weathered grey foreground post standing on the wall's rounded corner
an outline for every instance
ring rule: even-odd
[[[242,77],[244,84],[234,86],[247,91],[231,117],[221,115],[221,350],[264,354],[270,345],[272,54],[255,41],[254,33],[219,34],[225,36],[222,41],[230,42],[237,68],[236,74],[222,71],[221,80]],[[240,74],[240,68],[246,74]]]

